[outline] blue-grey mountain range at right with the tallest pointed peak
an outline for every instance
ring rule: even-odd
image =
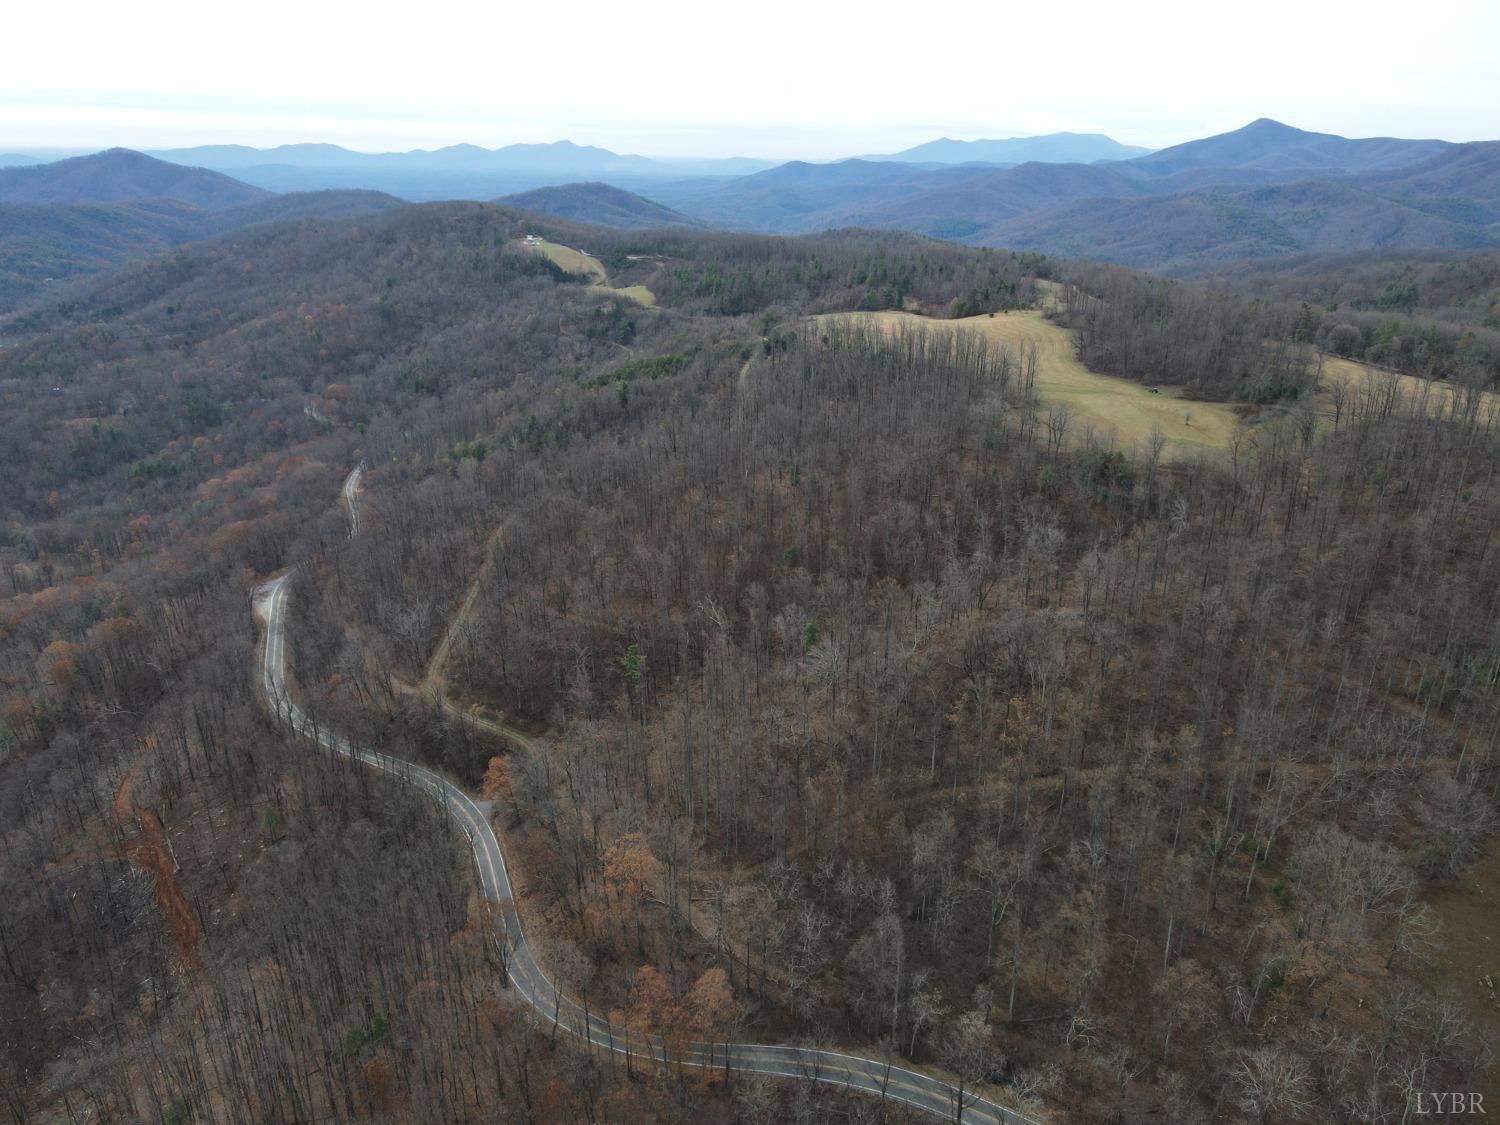
[[[795,164],[654,196],[756,232],[896,228],[1191,273],[1302,250],[1500,244],[1500,142],[1350,140],[1260,118],[1128,160]]]

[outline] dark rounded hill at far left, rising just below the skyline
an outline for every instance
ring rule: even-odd
[[[22,168],[0,168],[0,202],[178,200],[208,212],[255,202],[261,188],[207,168],[184,168],[129,148]]]

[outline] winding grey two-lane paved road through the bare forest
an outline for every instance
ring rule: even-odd
[[[358,530],[356,494],[362,474],[363,466],[356,468],[344,483],[344,498],[348,502],[352,531]],[[448,814],[468,837],[482,892],[498,908],[501,924],[495,942],[510,982],[516,993],[544,1020],[592,1047],[648,1060],[654,1065],[674,1062],[687,1066],[723,1066],[726,1072],[741,1071],[822,1082],[904,1102],[964,1125],[1040,1125],[1035,1119],[998,1106],[969,1089],[960,1090],[940,1078],[858,1054],[780,1044],[687,1042],[675,1044],[670,1048],[670,1058],[668,1058],[668,1050],[658,1036],[612,1026],[602,1016],[586,1011],[564,994],[531,954],[531,946],[520,928],[520,915],[516,912],[500,840],[495,837],[489,819],[468,794],[414,762],[356,746],[342,734],[316,723],[292,700],[286,688],[286,600],[291,573],[294,572],[266,582],[254,594],[255,612],[266,622],[266,644],[261,650],[261,688],[266,692],[272,711],[297,735],[316,742],[330,753],[380,770],[414,786]]]

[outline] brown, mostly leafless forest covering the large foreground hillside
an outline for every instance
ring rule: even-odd
[[[1070,428],[1026,350],[808,318],[1032,308],[1244,428],[1167,464]],[[1496,814],[1494,378],[1455,346],[1413,368],[1442,394],[1376,374],[1334,412],[1310,315],[434,204],[0,321],[0,1104],[903,1119],[554,1038],[438,810],[256,698],[249,592],[304,560],[300,705],[490,801],[538,960],[622,1026],[1054,1122],[1479,1088],[1494,1023],[1434,969],[1431,896]]]

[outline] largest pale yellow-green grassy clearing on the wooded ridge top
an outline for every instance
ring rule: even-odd
[[[1036,390],[1044,402],[1068,406],[1072,416],[1068,429],[1076,440],[1092,428],[1100,435],[1113,430],[1124,446],[1144,446],[1152,426],[1161,426],[1167,438],[1162,458],[1182,460],[1196,453],[1227,448],[1240,428],[1239,416],[1222,402],[1180,399],[1170,387],[1161,387],[1160,393],[1152,394],[1138,382],[1089,370],[1078,363],[1068,332],[1041,312],[1006,312],[957,321],[928,320],[909,312],[850,312],[832,316],[864,320],[886,330],[914,326],[933,332],[981,332],[1016,352],[1035,345]]]

